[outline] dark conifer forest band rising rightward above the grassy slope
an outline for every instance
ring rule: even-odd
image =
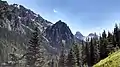
[[[92,67],[119,48],[120,28],[116,24],[112,33],[104,30],[99,37],[87,38],[85,42],[73,45],[67,55],[66,66],[61,67]]]

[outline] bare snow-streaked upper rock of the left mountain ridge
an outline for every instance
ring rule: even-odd
[[[26,34],[26,29],[32,31],[37,26],[40,31],[44,31],[49,25],[52,25],[51,22],[22,5],[8,5],[6,1],[1,1],[0,3],[1,28]]]

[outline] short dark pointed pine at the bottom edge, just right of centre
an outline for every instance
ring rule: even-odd
[[[75,66],[75,58],[74,58],[73,50],[72,49],[70,49],[70,52],[68,54],[66,66],[67,67],[74,67]]]

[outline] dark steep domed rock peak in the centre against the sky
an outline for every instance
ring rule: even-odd
[[[66,47],[69,47],[74,41],[71,30],[67,24],[61,20],[46,29],[46,38],[50,41],[50,44],[56,48],[60,48],[62,40],[65,41]]]

